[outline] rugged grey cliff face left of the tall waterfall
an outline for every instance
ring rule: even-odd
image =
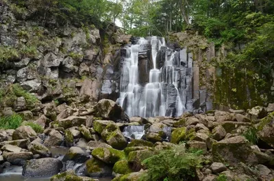
[[[120,47],[129,38],[112,25],[61,25],[54,17],[0,1],[0,87],[17,83],[42,103],[116,100]]]

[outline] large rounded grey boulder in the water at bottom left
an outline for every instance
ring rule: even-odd
[[[23,176],[33,177],[51,177],[58,174],[63,167],[62,161],[56,158],[40,158],[27,161],[23,166]]]

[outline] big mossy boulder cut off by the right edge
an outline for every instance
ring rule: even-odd
[[[260,120],[258,136],[262,141],[274,148],[274,112]]]

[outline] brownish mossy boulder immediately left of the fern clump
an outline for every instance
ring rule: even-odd
[[[134,169],[135,171],[140,171],[143,166],[142,161],[145,161],[145,159],[149,158],[152,155],[153,152],[151,150],[133,151],[129,152],[127,160],[130,164],[132,164],[132,169]]]

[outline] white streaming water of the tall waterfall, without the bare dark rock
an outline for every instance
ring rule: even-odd
[[[142,87],[138,83],[138,74],[142,74],[142,72],[138,72],[138,55],[140,52],[147,51],[146,48],[149,43],[153,68],[149,71],[149,83]],[[117,103],[125,109],[129,117],[137,115],[141,117],[172,116],[174,113],[168,109],[174,104],[174,101],[175,116],[180,116],[186,111],[185,92],[188,91],[186,89],[179,90],[180,62],[175,63],[175,52],[171,55],[165,53],[164,66],[160,70],[157,69],[159,66],[156,57],[162,46],[166,46],[164,38],[159,40],[157,37],[152,37],[150,41],[140,38],[138,44],[126,49],[121,74],[120,98]],[[167,49],[171,51],[169,48]],[[190,63],[188,62],[188,64]],[[188,81],[190,81],[188,83],[190,85],[191,80],[188,79]],[[175,91],[171,92],[168,87]],[[189,89],[189,87],[187,88]],[[176,99],[172,100],[173,97]]]

